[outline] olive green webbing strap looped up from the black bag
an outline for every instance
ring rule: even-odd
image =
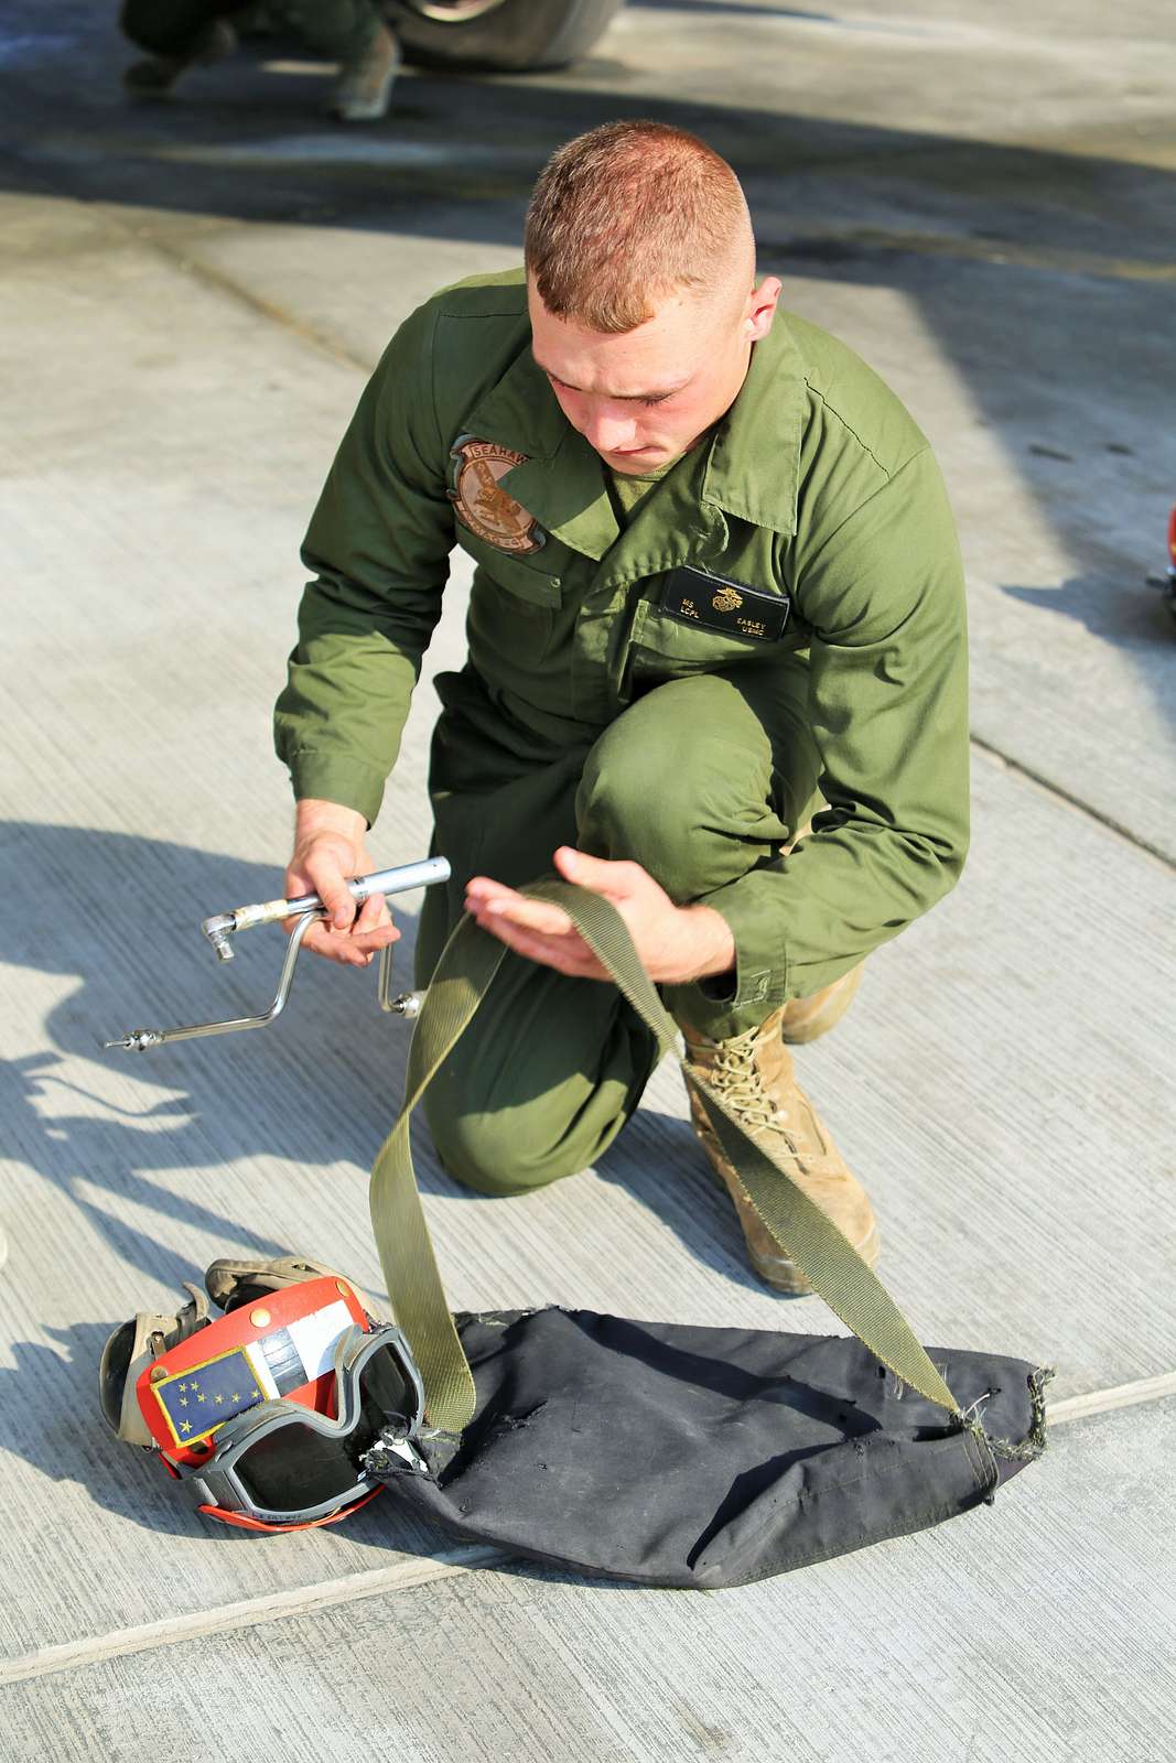
[[[677,1026],[642,968],[624,920],[608,901],[566,882],[536,882],[522,890],[568,913],[598,961],[656,1037],[661,1053],[675,1047]],[[464,919],[437,963],[413,1035],[407,1100],[372,1169],[372,1229],[397,1320],[409,1338],[425,1384],[434,1426],[460,1432],[474,1412],[474,1384],[453,1328],[444,1287],[421,1213],[409,1149],[409,1116],[427,1082],[478,1008],[502,945]],[[728,1104],[679,1056],[686,1082],[735,1167],[755,1211],[813,1291],[841,1317],[897,1379],[957,1416],[950,1389],[915,1340],[882,1280],[866,1266],[834,1222],[786,1169],[748,1135]]]

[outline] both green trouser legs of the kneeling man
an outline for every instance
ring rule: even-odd
[[[518,887],[552,873],[559,844],[640,862],[679,904],[778,859],[808,818],[818,755],[808,668],[742,668],[649,691],[585,744],[506,719],[476,675],[441,675],[430,790],[453,866],[428,889],[416,977],[425,984],[462,913],[464,883]],[[716,1038],[769,1007],[663,987],[666,1007]],[[636,1109],[652,1037],[619,993],[508,954],[425,1097],[450,1174],[487,1194],[543,1186],[592,1164]]]

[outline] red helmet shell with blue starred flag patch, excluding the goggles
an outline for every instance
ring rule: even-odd
[[[155,1359],[136,1395],[164,1460],[206,1463],[215,1433],[259,1402],[335,1417],[335,1343],[367,1315],[346,1280],[301,1280],[231,1310]]]

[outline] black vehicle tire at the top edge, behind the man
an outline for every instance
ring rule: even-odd
[[[591,49],[622,0],[395,0],[407,62],[497,72],[564,67]]]

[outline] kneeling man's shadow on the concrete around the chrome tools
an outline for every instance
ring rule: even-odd
[[[243,936],[226,968],[206,947],[199,920],[229,904],[270,899],[275,871],[162,839],[32,823],[2,825],[0,855],[12,873],[41,883],[19,913],[0,917],[0,961],[78,982],[48,1012],[48,1047],[0,1061],[11,1155],[67,1192],[127,1266],[175,1289],[201,1269],[136,1220],[178,1218],[217,1243],[245,1241],[266,1257],[312,1252],[312,1245],[270,1234],[264,1215],[229,1215],[199,1192],[178,1192],[175,1178],[231,1169],[257,1155],[296,1169],[342,1162],[356,1169],[347,1202],[363,1204],[361,1172],[400,1107],[409,1047],[406,1026],[376,1005],[374,971],[349,973],[307,956],[284,1015],[270,1028],[148,1053],[102,1053],[100,1040],[129,1028],[249,1014],[270,1001],[280,933],[250,933],[252,945]],[[397,970],[407,977],[416,920],[404,906],[395,917],[404,931]],[[92,1082],[78,1079],[78,1060],[93,1061]],[[109,1070],[162,1093],[134,1109],[113,1104],[102,1093]],[[307,1074],[314,1075],[310,1090]],[[730,1276],[739,1227],[726,1199],[711,1192],[702,1155],[686,1199],[682,1181],[666,1169],[679,1155],[695,1158],[689,1127],[661,1116],[638,1120],[642,1128],[626,1128],[599,1176],[626,1186],[666,1218],[695,1259]],[[471,1208],[511,1204],[453,1183],[423,1128],[414,1132],[414,1158],[425,1194],[458,1197]],[[755,1283],[749,1275],[746,1282]]]

